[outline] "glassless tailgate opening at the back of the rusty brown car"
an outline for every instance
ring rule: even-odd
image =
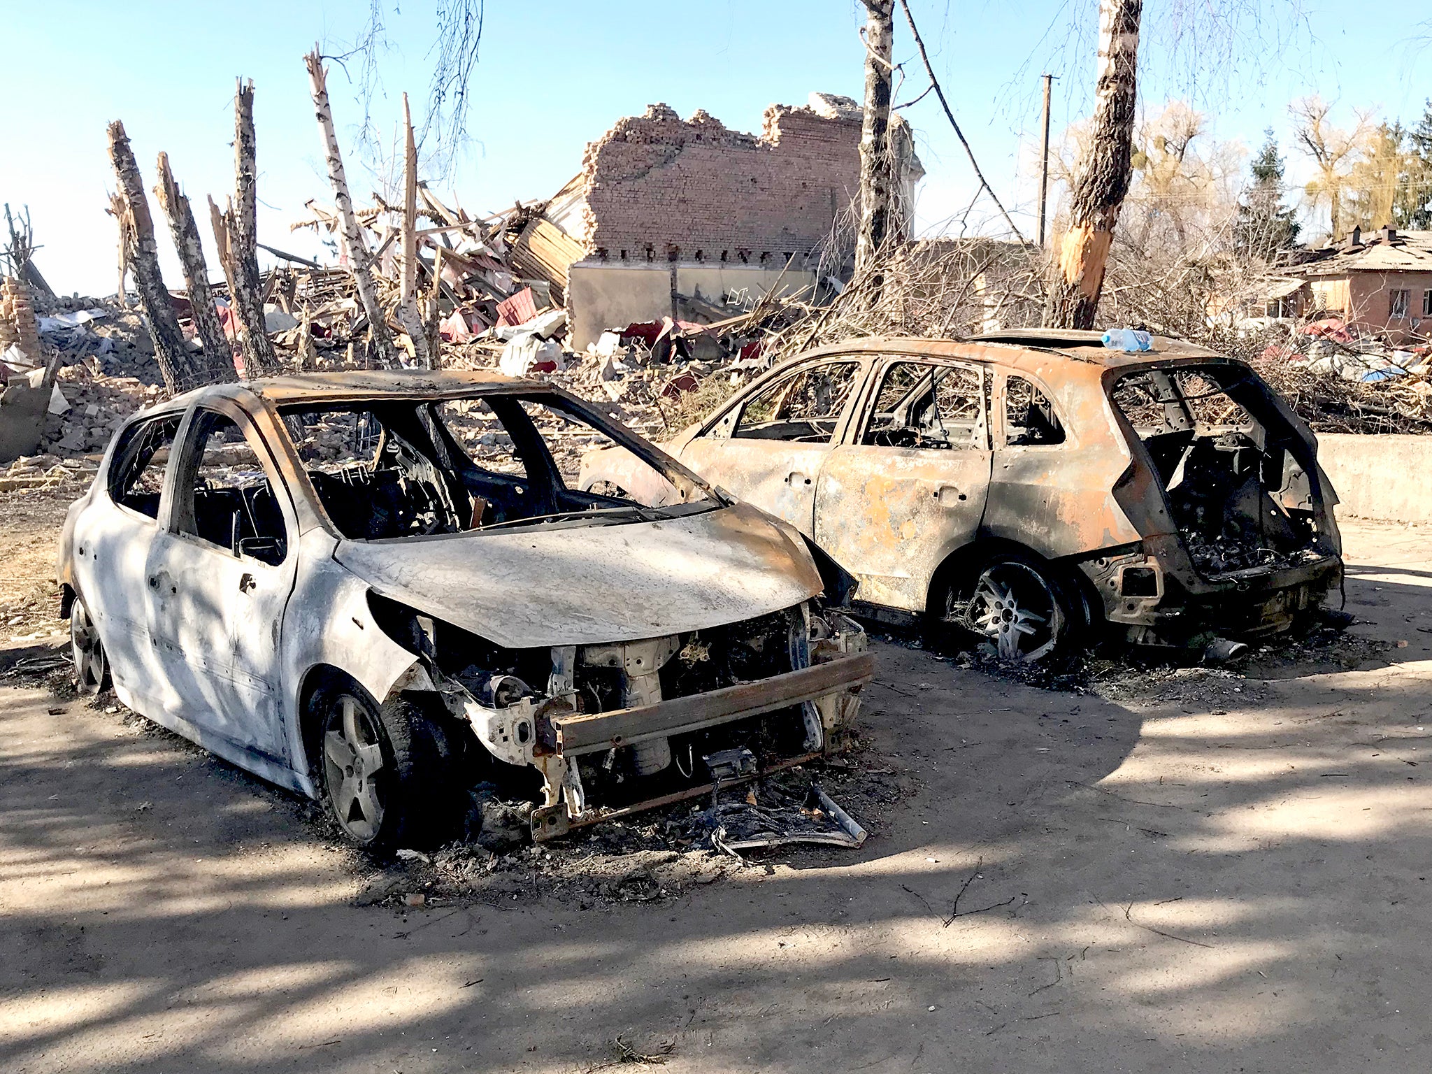
[[[1332,554],[1319,531],[1312,455],[1270,391],[1236,365],[1144,369],[1114,405],[1143,440],[1169,511],[1204,577],[1283,569]]]

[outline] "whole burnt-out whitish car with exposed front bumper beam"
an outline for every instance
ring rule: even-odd
[[[577,490],[591,445],[652,494]],[[481,372],[150,408],[70,508],[60,581],[82,687],[112,676],[365,848],[471,833],[501,800],[483,788],[523,789],[546,839],[816,758],[872,676],[792,527],[566,392]]]

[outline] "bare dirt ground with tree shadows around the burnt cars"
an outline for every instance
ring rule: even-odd
[[[63,497],[32,495],[0,503],[0,683],[59,627]],[[1426,538],[1345,523],[1362,621],[1232,670],[1050,690],[878,642],[862,756],[901,790],[861,798],[865,846],[656,898],[375,902],[432,874],[0,686],[0,1070],[1425,1071]]]

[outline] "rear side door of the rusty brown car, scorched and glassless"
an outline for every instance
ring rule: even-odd
[[[922,611],[944,558],[974,540],[990,490],[988,374],[892,357],[821,468],[815,541],[856,599]]]

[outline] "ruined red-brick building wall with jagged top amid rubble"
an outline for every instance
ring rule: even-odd
[[[813,291],[849,268],[861,122],[859,105],[829,93],[772,105],[759,136],[652,105],[587,146],[577,176],[524,226],[513,265],[566,296],[573,349],[613,326],[710,322],[772,289]],[[908,233],[924,168],[909,126],[894,117],[892,130]]]

